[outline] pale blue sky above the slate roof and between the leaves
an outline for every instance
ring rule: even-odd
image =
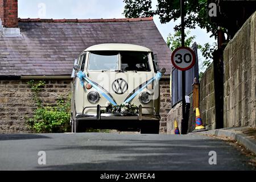
[[[155,9],[157,0],[152,1]],[[122,15],[125,3],[122,0],[19,0],[19,18],[53,18],[53,19],[94,19],[94,18],[124,18]],[[44,9],[45,7],[45,9]],[[168,34],[174,33],[175,22],[161,24],[159,17],[154,16],[154,22],[164,40]],[[195,41],[201,45],[215,40],[209,37],[207,31],[196,28],[191,30],[191,35],[196,35]],[[199,53],[199,67],[202,63]]]

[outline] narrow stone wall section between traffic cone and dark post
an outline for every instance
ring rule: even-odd
[[[208,130],[215,129],[215,96],[213,63],[204,72],[199,85],[199,110],[202,122]]]

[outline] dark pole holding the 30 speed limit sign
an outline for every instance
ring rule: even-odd
[[[180,13],[181,13],[181,47],[185,46],[185,25],[184,25],[184,0],[180,0]],[[185,71],[182,71],[182,119],[181,119],[181,134],[187,134],[188,122],[185,118]]]

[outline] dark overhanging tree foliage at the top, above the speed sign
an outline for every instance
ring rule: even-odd
[[[180,0],[158,0],[156,10],[152,10],[152,0],[123,0],[126,18],[150,17],[159,15],[161,23],[180,18]],[[185,27],[193,29],[197,26],[205,28],[207,32],[217,30],[216,24],[210,22],[208,17],[207,0],[184,0]],[[175,26],[180,30],[180,25]]]

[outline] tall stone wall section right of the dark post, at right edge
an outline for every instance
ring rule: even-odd
[[[224,127],[256,127],[256,12],[224,50]]]

